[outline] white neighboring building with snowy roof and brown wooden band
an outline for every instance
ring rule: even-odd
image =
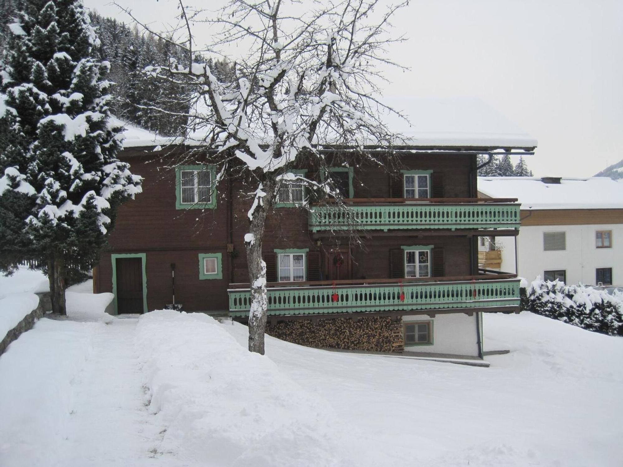
[[[607,177],[478,177],[478,196],[521,203],[516,255],[513,238],[493,240],[502,249],[502,271],[623,285],[623,184]]]

